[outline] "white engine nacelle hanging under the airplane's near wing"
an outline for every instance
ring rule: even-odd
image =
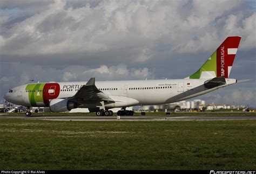
[[[76,108],[76,103],[69,101],[68,99],[52,99],[50,101],[50,110],[53,113],[67,112],[68,110]]]

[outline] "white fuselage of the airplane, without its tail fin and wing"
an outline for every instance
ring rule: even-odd
[[[204,87],[204,83],[207,80],[209,79],[96,81],[95,86],[99,91],[102,91],[115,101],[105,105],[106,108],[122,108],[177,102],[236,82],[235,79],[226,79],[225,85],[207,89]],[[86,82],[58,82],[58,84],[60,91],[57,98],[59,99],[70,98],[75,95],[78,89],[85,85]],[[5,100],[26,107],[48,107],[43,102],[31,104],[26,86],[12,88],[11,93],[5,94]]]

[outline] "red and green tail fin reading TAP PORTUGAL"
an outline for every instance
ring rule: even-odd
[[[227,37],[204,65],[186,79],[228,78],[240,40],[240,36]]]

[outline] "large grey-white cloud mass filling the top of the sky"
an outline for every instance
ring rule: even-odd
[[[91,1],[76,2],[81,6],[70,1],[35,1],[32,5],[45,8],[8,25],[10,28],[5,27],[8,19],[4,16],[1,54],[76,54],[127,48],[137,54],[133,61],[147,61],[147,50],[157,44],[173,45],[172,52],[194,53],[208,51],[230,35],[244,37],[242,48],[255,48],[250,36],[255,36],[256,12],[246,16],[232,11],[242,1],[111,0],[96,6]],[[22,13],[26,5],[18,2],[8,5],[3,1],[0,6],[15,4]],[[199,39],[193,39],[195,35]]]

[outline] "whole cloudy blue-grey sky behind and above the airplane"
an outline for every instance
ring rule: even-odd
[[[256,107],[255,1],[1,0],[0,100],[31,79],[183,79],[228,36],[241,36],[230,78],[197,97]]]

